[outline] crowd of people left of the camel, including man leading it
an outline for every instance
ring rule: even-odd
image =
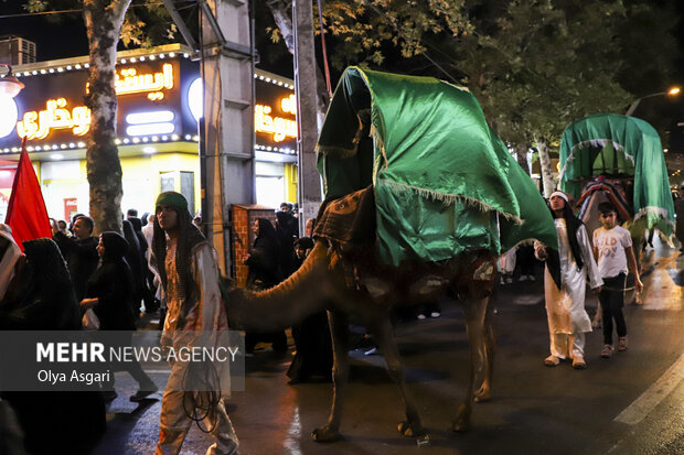
[[[255,241],[244,258],[250,289],[268,289],[287,279],[313,247],[310,237],[299,237],[292,212],[292,205],[284,203],[275,226],[265,218],[256,220]],[[165,349],[193,343],[191,334],[196,331],[227,329],[215,251],[200,231],[201,217],[191,216],[181,194],[162,193],[154,214],[145,214],[142,218],[138,218],[136,209],[129,209],[121,232],[105,231],[95,237],[94,220],[84,214],[75,215],[70,224],[52,218],[50,221],[52,239],[25,241],[24,253],[14,243],[10,227],[0,225],[0,329],[121,331],[130,338],[141,314],[159,311]],[[314,220],[310,221],[309,235]],[[95,322],[86,316],[90,311]],[[211,327],[206,321],[213,322]],[[290,382],[330,380],[332,345],[327,314],[312,315],[292,327],[292,336],[296,356],[287,373]],[[288,349],[282,332],[248,333],[247,348],[253,350],[263,339],[271,342],[277,351]],[[186,368],[184,362],[172,365],[162,397],[157,454],[178,453],[192,423],[181,387]],[[158,391],[136,361],[109,365],[109,369],[128,371],[138,382],[139,390],[130,397],[131,401],[149,399]],[[106,403],[117,397],[114,379],[99,387],[100,392],[74,392],[77,400],[65,392],[2,392],[0,412],[15,413],[31,454],[55,453],[55,447],[68,448],[71,453],[81,453],[81,448],[87,452],[105,430]],[[215,399],[211,413],[204,414],[206,426],[213,429],[215,436],[211,453],[237,452],[237,437],[225,411],[226,393]],[[72,400],[82,407],[71,421],[64,421],[58,413],[64,415]],[[44,403],[52,403],[51,410],[44,411]],[[60,422],[82,422],[81,430],[87,437],[74,434]],[[46,426],[51,430],[46,431]]]

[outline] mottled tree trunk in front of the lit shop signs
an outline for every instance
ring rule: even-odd
[[[116,47],[131,0],[85,0],[90,71],[86,106],[92,110],[86,143],[90,217],[95,232],[121,231],[121,163],[115,140],[117,98],[114,88]]]

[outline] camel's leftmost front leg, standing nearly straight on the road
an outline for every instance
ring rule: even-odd
[[[340,420],[344,401],[344,387],[349,379],[349,317],[344,313],[328,312],[330,334],[332,335],[332,408],[328,423],[311,432],[313,441],[332,442],[340,438]]]

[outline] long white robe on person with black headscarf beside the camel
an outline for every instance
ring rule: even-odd
[[[544,272],[544,295],[546,297],[546,314],[548,331],[552,334],[577,334],[591,332],[591,321],[585,310],[585,290],[587,274],[591,289],[603,284],[594,260],[591,245],[584,226],[577,230],[577,243],[581,250],[584,267],[577,268],[571,254],[567,235],[567,225],[564,218],[554,219],[558,235],[558,256],[560,257],[562,289],[551,278],[548,268]]]

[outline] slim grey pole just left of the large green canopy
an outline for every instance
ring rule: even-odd
[[[311,1],[292,1],[295,32],[295,93],[297,94],[297,152],[299,172],[299,230],[316,217],[321,204],[321,177],[316,166],[318,142],[317,73]]]

